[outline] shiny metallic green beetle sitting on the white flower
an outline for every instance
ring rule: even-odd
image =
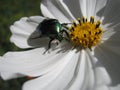
[[[49,37],[49,45],[48,49],[51,47],[51,42],[53,40],[62,41],[65,37],[63,37],[63,32],[65,32],[67,35],[65,29],[63,29],[64,25],[61,24],[57,19],[44,19],[39,25],[38,30],[41,33],[41,37]]]

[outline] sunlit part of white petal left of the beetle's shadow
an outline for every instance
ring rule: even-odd
[[[37,25],[44,18],[41,16],[23,17],[19,21],[16,21],[14,25],[10,27],[12,36],[11,42],[15,43],[20,48],[29,48],[31,45],[28,43],[28,39],[35,32]],[[38,32],[37,32],[38,33]]]

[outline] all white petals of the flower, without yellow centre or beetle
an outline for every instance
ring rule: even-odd
[[[43,52],[48,39],[29,40],[44,17],[24,17],[10,27],[11,42],[28,51],[8,52],[0,57],[3,79],[36,77],[25,82],[23,90],[120,90],[120,1],[119,0],[43,0],[45,17],[69,23],[78,17],[101,20],[101,44],[89,49],[72,49],[61,42],[50,53]],[[30,22],[32,20],[34,22]],[[37,22],[37,23],[36,23]],[[33,33],[34,32],[34,33]]]

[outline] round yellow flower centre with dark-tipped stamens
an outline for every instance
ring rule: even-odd
[[[70,28],[70,41],[75,46],[89,48],[96,46],[101,41],[103,30],[100,27],[100,21],[94,21],[94,17],[87,21],[87,18],[78,18],[78,23],[74,22]]]

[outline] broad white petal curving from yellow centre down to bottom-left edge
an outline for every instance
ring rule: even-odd
[[[74,75],[78,58],[79,53],[70,51],[51,72],[26,82],[23,90],[66,90],[64,88]]]

